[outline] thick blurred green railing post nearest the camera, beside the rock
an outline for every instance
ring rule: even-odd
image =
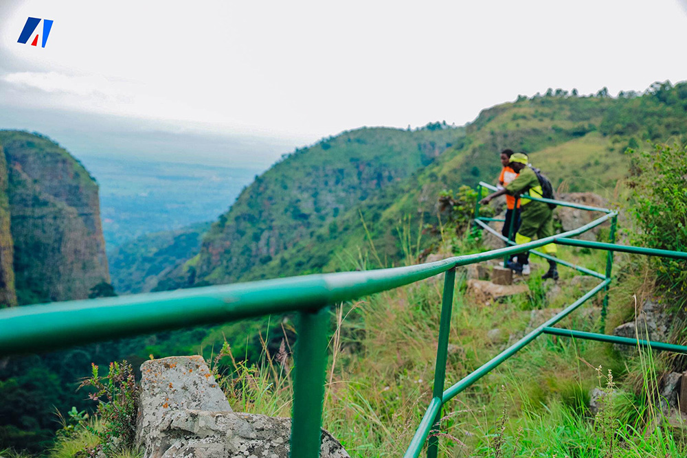
[[[329,308],[299,313],[295,350],[292,458],[318,458],[327,361]]]

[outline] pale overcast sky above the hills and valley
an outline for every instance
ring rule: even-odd
[[[54,20],[45,48],[16,42],[27,16]],[[1,0],[0,128],[120,117],[269,144],[272,161],[364,125],[462,125],[548,87],[687,80],[686,43],[687,0]]]

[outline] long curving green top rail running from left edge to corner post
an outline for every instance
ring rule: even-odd
[[[562,235],[576,236],[612,215]],[[418,282],[455,266],[521,253],[553,240],[554,236],[416,266],[5,308],[0,310],[0,355],[55,350],[192,325],[313,310]]]

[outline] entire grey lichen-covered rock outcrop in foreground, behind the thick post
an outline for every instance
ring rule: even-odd
[[[289,458],[291,419],[236,413],[201,356],[146,361],[136,442],[146,458]],[[347,458],[322,430],[320,456]]]

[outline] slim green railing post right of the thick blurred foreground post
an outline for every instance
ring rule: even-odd
[[[451,308],[453,307],[453,284],[455,283],[455,267],[444,274],[444,295],[441,301],[441,319],[439,321],[439,340],[436,348],[436,366],[434,367],[434,387],[432,397],[441,399],[444,394],[444,378],[446,376],[446,358],[449,347],[449,331],[451,330]],[[441,411],[434,417],[434,425],[427,441],[427,458],[436,458],[439,448],[439,438],[436,433],[441,426]]]

